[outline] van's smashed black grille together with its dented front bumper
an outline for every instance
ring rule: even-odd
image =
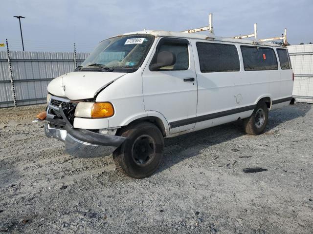
[[[67,118],[68,112],[66,115],[63,110],[68,110],[68,106],[73,106],[68,99],[51,96],[45,123],[45,135],[64,141],[67,154],[76,157],[108,156],[126,139],[74,128]]]

